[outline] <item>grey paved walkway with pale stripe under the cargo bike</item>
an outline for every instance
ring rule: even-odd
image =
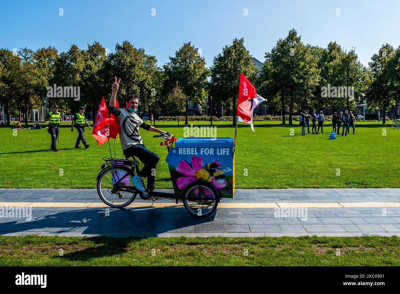
[[[29,215],[5,215],[6,206],[24,207]],[[190,216],[172,200],[106,208],[94,189],[0,189],[0,234],[400,236],[400,189],[394,188],[236,189],[205,218]]]

